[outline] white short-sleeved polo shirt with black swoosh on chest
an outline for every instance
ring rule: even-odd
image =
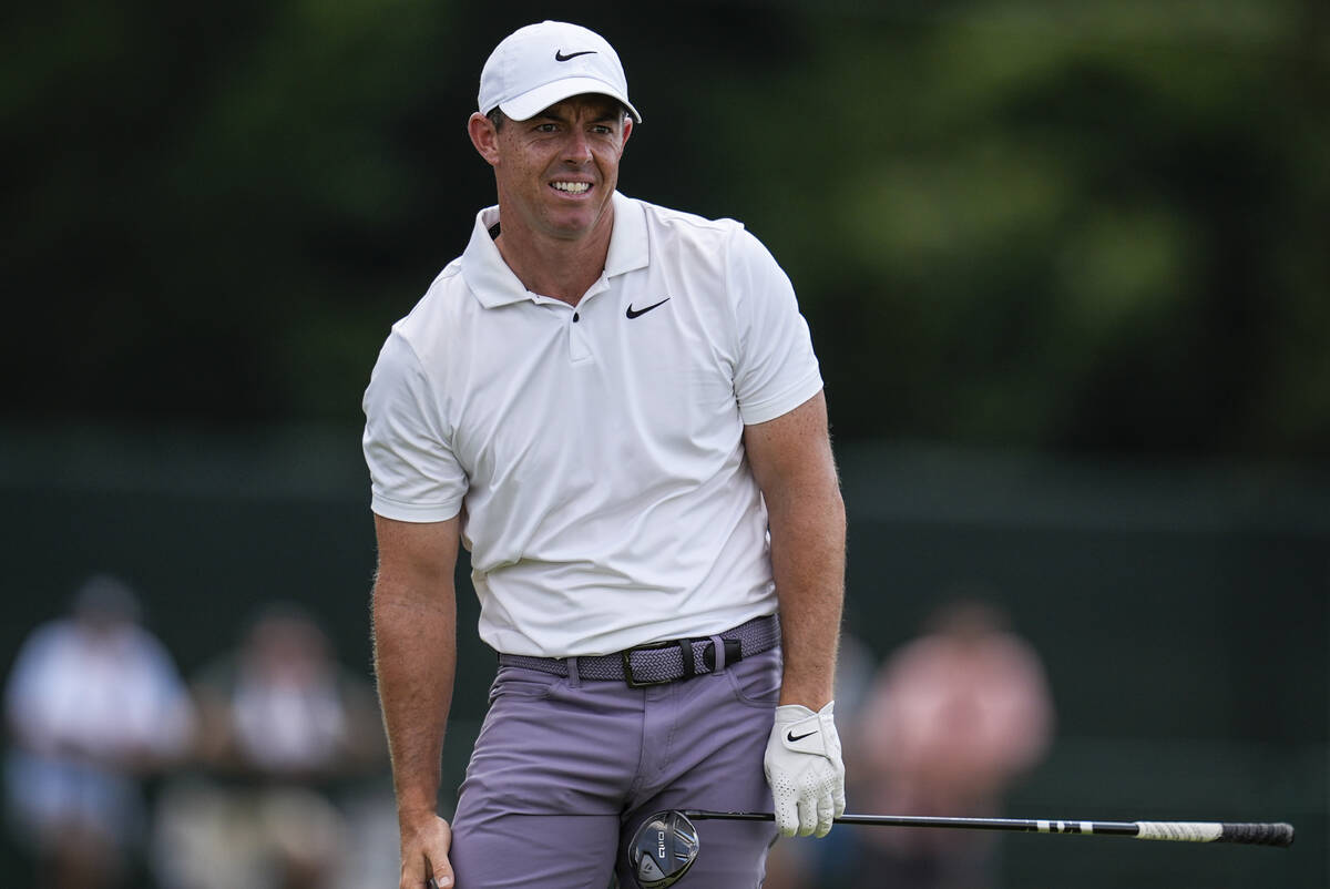
[[[742,435],[822,387],[794,290],[738,222],[613,201],[576,309],[523,287],[481,210],[364,394],[372,510],[462,511],[500,652],[604,655],[775,612]]]

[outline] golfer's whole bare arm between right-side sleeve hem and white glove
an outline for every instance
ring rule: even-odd
[[[785,677],[781,704],[818,711],[831,700],[845,599],[845,503],[818,393],[743,430],[771,530]]]

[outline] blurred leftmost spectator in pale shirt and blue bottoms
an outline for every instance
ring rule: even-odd
[[[189,741],[185,685],[138,615],[128,586],[93,576],[68,618],[32,632],[9,676],[9,816],[40,888],[122,884],[141,852],[141,780]]]

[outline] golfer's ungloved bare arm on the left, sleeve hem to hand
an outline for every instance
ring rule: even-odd
[[[435,805],[458,660],[459,520],[374,523],[374,665],[402,830],[400,889],[423,889],[430,877],[447,886],[451,832]]]

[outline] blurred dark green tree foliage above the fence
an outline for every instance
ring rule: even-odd
[[[484,55],[543,15],[7,13],[11,413],[355,423],[387,325],[492,201],[463,130]],[[622,188],[770,244],[841,437],[1330,450],[1323,4],[580,15],[646,117]]]

